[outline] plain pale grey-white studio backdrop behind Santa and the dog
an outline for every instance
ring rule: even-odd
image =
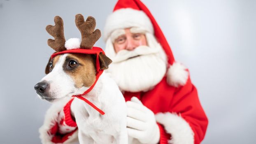
[[[142,0],[162,28],[209,118],[203,144],[256,141],[254,0]],[[77,13],[103,30],[116,0],[0,0],[0,144],[38,144],[49,103],[34,85],[53,50],[45,26],[64,20],[65,37],[80,37]],[[104,49],[103,39],[95,44]]]

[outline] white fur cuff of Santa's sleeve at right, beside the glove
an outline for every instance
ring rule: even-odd
[[[155,116],[156,121],[164,126],[166,132],[171,134],[168,144],[194,143],[194,132],[184,118],[170,112],[158,113]]]

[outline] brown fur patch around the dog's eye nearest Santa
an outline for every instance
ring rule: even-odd
[[[77,88],[89,87],[96,80],[94,60],[88,54],[69,53],[63,64],[63,70],[72,77]]]

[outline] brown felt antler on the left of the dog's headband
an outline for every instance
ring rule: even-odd
[[[54,17],[55,26],[48,25],[46,31],[54,37],[54,39],[48,39],[48,45],[57,52],[65,51],[65,37],[63,20],[60,16]]]

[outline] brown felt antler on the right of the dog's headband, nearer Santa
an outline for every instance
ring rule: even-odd
[[[84,16],[77,14],[75,18],[75,23],[77,28],[81,33],[81,49],[92,49],[95,42],[100,38],[100,30],[94,30],[96,26],[96,21],[92,16],[88,16],[86,21],[84,21]]]

